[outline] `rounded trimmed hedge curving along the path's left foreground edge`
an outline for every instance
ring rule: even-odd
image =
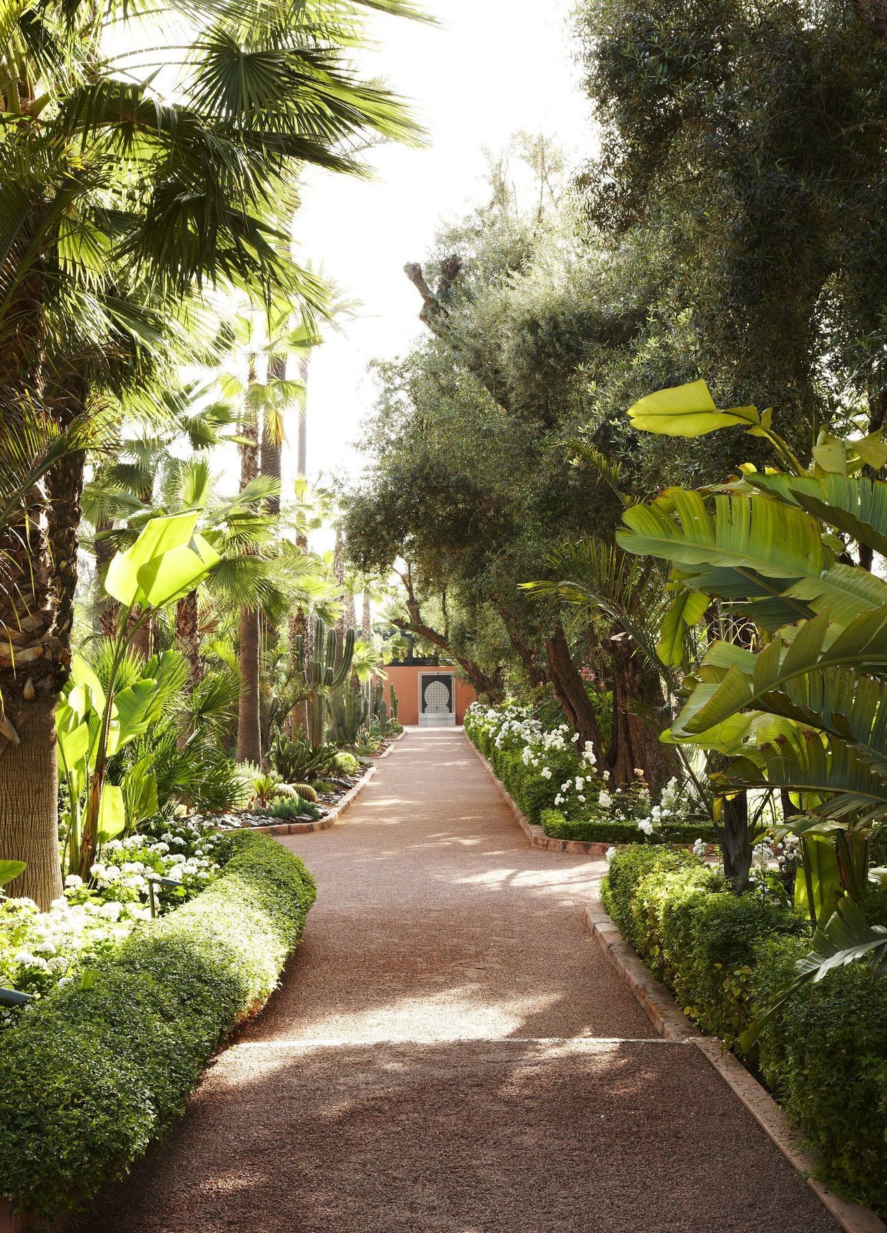
[[[222,1038],[277,983],[314,882],[241,832],[196,899],[138,926],[0,1042],[0,1195],[53,1217],[127,1169],[182,1112]]]

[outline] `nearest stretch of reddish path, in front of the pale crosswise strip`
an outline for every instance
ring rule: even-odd
[[[690,1046],[240,1044],[79,1233],[820,1233]]]

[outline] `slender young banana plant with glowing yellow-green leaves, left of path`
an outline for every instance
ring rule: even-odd
[[[83,658],[74,656],[71,684],[58,708],[59,767],[69,800],[69,868],[85,877],[99,843],[156,810],[156,783],[148,760],[127,772],[123,785],[107,782],[108,760],[160,718],[164,692],[159,673],[132,678],[133,640],[161,608],[196,587],[218,562],[196,533],[200,512],[152,519],[136,543],[108,566],[105,587],[119,604],[106,687]],[[138,615],[131,620],[131,614]]]

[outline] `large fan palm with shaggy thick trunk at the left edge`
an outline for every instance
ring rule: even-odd
[[[166,18],[168,47],[152,14],[122,0],[22,0],[4,26],[0,69],[15,88],[0,100],[0,419],[30,404],[65,432],[97,413],[110,388],[137,387],[175,349],[195,321],[188,297],[209,285],[320,308],[323,289],[286,252],[294,170],[354,173],[352,137],[413,134],[399,102],[352,68],[360,5],[172,0]],[[111,39],[128,49],[112,57]],[[0,545],[0,639],[17,647],[0,666],[16,732],[0,856],[23,831],[54,842],[53,711],[83,481],[84,453],[59,457]],[[46,905],[58,875],[31,867],[22,885]]]

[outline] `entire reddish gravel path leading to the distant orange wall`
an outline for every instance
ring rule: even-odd
[[[600,862],[529,847],[461,731],[410,731],[283,842],[304,944],[83,1233],[836,1228],[591,942]]]

